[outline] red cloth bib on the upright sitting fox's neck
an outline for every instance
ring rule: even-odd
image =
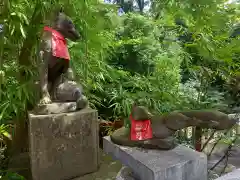
[[[52,55],[58,58],[70,60],[67,41],[63,35],[48,26],[44,27],[44,31],[52,33]]]

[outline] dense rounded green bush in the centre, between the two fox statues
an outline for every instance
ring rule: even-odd
[[[127,117],[135,100],[160,112],[174,109],[171,101],[180,82],[181,47],[176,42],[160,42],[164,29],[148,17],[128,14],[119,19],[116,31],[102,36],[105,56],[92,47],[87,59],[80,57],[75,52],[84,42],[71,49],[91,102],[108,117]]]

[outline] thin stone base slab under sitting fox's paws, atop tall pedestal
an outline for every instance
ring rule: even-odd
[[[60,114],[76,110],[76,102],[53,102],[51,104],[39,104],[33,110],[36,115]]]

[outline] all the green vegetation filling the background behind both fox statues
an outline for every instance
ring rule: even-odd
[[[27,110],[39,98],[38,41],[59,6],[82,34],[81,41],[69,42],[71,62],[101,119],[127,119],[135,100],[156,113],[206,108],[233,113],[240,106],[237,1],[1,0],[4,162],[27,147]],[[0,179],[6,178],[7,167],[1,168]]]

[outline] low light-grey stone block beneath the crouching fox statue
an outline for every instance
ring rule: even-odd
[[[169,151],[119,146],[104,137],[103,149],[130,167],[139,180],[207,180],[207,157],[184,146]]]

